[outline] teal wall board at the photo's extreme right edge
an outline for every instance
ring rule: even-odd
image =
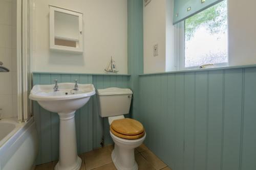
[[[256,68],[244,71],[241,169],[256,169]]]

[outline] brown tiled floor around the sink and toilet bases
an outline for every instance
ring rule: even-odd
[[[80,170],[115,170],[111,160],[113,145],[81,154],[82,166]],[[135,159],[139,170],[170,170],[159,158],[157,158],[144,144],[135,150]],[[53,170],[57,162],[50,162],[36,166],[36,170]]]

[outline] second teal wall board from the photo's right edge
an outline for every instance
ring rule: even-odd
[[[223,169],[239,169],[243,69],[225,70]]]

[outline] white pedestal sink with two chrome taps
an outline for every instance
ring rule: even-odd
[[[59,115],[59,161],[55,170],[80,169],[81,159],[77,156],[75,111],[85,105],[95,94],[92,84],[59,83],[58,91],[54,85],[35,85],[29,99],[37,101],[44,109]]]

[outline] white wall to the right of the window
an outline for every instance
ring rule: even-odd
[[[256,1],[228,1],[229,65],[256,64]]]

